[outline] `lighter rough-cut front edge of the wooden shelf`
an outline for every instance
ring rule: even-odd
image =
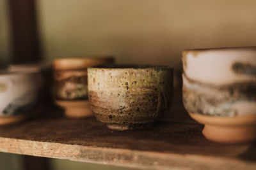
[[[0,152],[153,169],[255,169],[255,162],[223,157],[158,153],[0,138]]]

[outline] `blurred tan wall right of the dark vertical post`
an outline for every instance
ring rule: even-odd
[[[184,48],[256,45],[255,0],[38,0],[45,59],[180,66]]]

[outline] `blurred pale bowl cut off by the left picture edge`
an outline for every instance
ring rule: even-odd
[[[37,71],[0,72],[0,124],[19,122],[38,106],[42,87]]]

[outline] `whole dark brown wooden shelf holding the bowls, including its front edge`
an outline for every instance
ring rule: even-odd
[[[256,169],[255,144],[212,143],[202,136],[202,125],[168,119],[124,132],[95,118],[28,120],[0,127],[0,152],[153,169]]]

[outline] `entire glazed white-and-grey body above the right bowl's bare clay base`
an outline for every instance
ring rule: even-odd
[[[183,101],[189,113],[256,114],[256,48],[183,52]]]

